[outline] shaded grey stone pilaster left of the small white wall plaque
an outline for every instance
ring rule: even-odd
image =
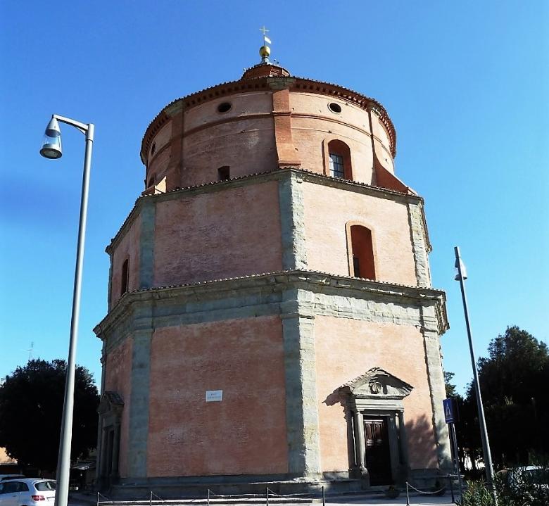
[[[130,434],[128,475],[146,477],[147,438],[149,437],[149,391],[151,375],[152,305],[135,312],[132,338],[132,390],[130,393]]]

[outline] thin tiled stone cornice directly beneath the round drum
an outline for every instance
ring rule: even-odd
[[[196,186],[188,186],[187,188],[180,188],[167,191],[163,194],[151,194],[142,195],[135,201],[134,207],[127,215],[126,219],[122,223],[120,229],[115,234],[111,243],[106,247],[106,252],[110,255],[111,251],[120,242],[122,236],[124,236],[128,227],[132,224],[133,220],[139,215],[141,207],[148,199],[155,199],[156,202],[163,202],[166,200],[172,200],[180,197],[201,195],[206,193],[212,193],[215,191],[223,191],[226,189],[239,188],[248,184],[260,184],[269,181],[279,181],[285,177],[290,177],[291,174],[300,175],[305,182],[311,182],[315,184],[322,184],[322,186],[330,186],[332,188],[342,189],[346,191],[354,191],[365,195],[376,196],[379,198],[389,198],[393,201],[400,201],[403,203],[422,203],[423,198],[412,194],[403,194],[400,191],[381,188],[380,186],[371,186],[370,184],[349,181],[348,179],[338,179],[329,177],[318,172],[310,172],[309,170],[301,169],[298,167],[284,167],[281,169],[272,170],[270,172],[259,172],[258,174],[250,174],[241,177],[234,177],[227,181],[215,181],[210,183],[198,184]]]

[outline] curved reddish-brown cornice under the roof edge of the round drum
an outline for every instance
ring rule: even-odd
[[[374,108],[379,114],[379,120],[389,134],[391,155],[393,158],[396,156],[395,127],[391,118],[389,118],[386,109],[377,100],[362,95],[358,93],[358,91],[339,86],[338,84],[306,79],[305,77],[254,77],[251,79],[241,79],[238,81],[217,84],[216,86],[196,91],[196,93],[192,93],[180,99],[175,99],[168,103],[146,128],[143,139],[141,140],[141,162],[146,165],[146,153],[149,152],[153,137],[172,115],[182,111],[184,112],[189,108],[201,105],[210,100],[219,99],[222,96],[245,93],[246,91],[268,91],[272,89],[271,82],[280,82],[281,80],[284,80],[286,83],[285,86],[289,87],[290,91],[334,96],[338,99],[354,103],[364,110]]]

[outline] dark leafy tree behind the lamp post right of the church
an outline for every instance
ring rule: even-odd
[[[549,453],[549,352],[519,327],[507,327],[493,339],[488,356],[478,360],[479,383],[490,438],[498,467],[526,465],[531,455]],[[481,458],[481,440],[474,386],[460,406],[460,446],[474,461]]]

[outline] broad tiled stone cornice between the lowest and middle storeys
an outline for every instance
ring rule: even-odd
[[[170,305],[175,301],[196,303],[227,298],[241,292],[282,293],[290,290],[322,293],[324,296],[374,300],[387,304],[405,303],[415,307],[434,307],[438,333],[442,334],[448,329],[446,293],[441,290],[375,282],[310,270],[290,270],[130,291],[120,298],[108,315],[94,328],[94,332],[99,337],[105,336],[111,329],[117,327],[125,316],[130,315],[133,311],[132,307],[146,305],[159,308],[163,303]],[[310,307],[309,310],[315,311],[315,308]]]

